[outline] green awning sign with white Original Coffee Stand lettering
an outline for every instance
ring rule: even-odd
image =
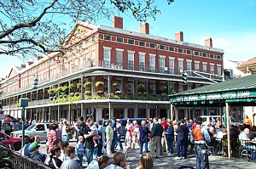
[[[211,99],[238,99],[248,96],[256,96],[254,91],[236,91],[227,93],[208,93],[208,94],[196,94],[189,96],[179,96],[177,98],[171,98],[171,102],[185,102],[185,101],[198,101],[198,100],[211,100]]]

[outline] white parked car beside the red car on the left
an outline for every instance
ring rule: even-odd
[[[41,142],[46,142],[49,125],[53,123],[34,123],[25,130],[25,137],[40,136]],[[11,132],[14,137],[22,138],[22,130]]]

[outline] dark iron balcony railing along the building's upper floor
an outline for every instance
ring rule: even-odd
[[[73,68],[71,71],[64,69],[62,71],[59,71],[59,73],[55,74],[54,76],[50,76],[50,77],[44,78],[44,79],[39,79],[39,84],[51,82],[51,81],[61,78],[63,76],[72,75],[81,70],[88,70],[92,67],[102,67],[102,68],[113,69],[113,70],[134,70],[134,71],[141,71],[141,72],[148,72],[148,73],[161,73],[161,74],[169,74],[169,75],[177,75],[177,76],[181,76],[181,74],[182,74],[181,70],[175,70],[175,69],[169,68],[169,67],[159,67],[159,66],[152,66],[152,65],[147,66],[142,63],[140,65],[134,65],[134,62],[132,62],[132,61],[129,61],[129,63],[121,63],[121,62],[113,63],[108,60],[101,60],[97,64],[91,63],[90,61],[88,61],[84,65],[84,67],[77,66],[76,68]],[[210,73],[200,72],[200,74],[203,76],[206,76],[207,78],[215,80],[215,81],[222,81],[222,79],[223,79],[223,76],[214,75],[214,74],[210,74]],[[201,76],[195,75],[193,72],[190,72],[188,75],[195,76],[195,77],[201,77]],[[3,93],[3,94],[1,94],[1,96],[8,95],[9,93],[20,92],[29,87],[32,87],[32,85],[28,85],[26,87],[21,87],[12,92]]]

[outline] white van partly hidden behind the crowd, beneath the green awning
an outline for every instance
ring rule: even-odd
[[[216,119],[219,117],[219,115],[201,115],[201,127],[210,127],[212,126],[213,119],[216,121]],[[222,122],[225,123],[224,115],[222,115]],[[236,119],[232,116],[230,116],[230,125],[238,126],[239,123],[236,121]]]

